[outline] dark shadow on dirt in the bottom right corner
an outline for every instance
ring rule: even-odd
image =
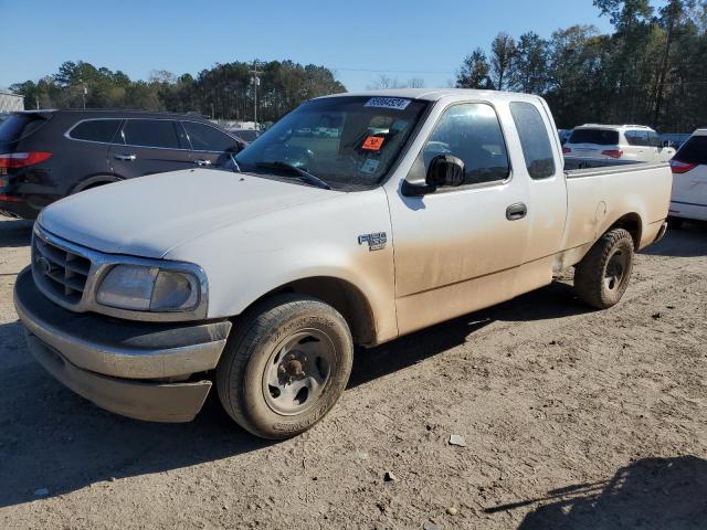
[[[486,509],[536,507],[518,530],[697,530],[707,528],[707,460],[645,458],[606,481],[549,491],[547,497]]]

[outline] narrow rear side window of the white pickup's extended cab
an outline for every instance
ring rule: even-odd
[[[555,151],[538,107],[531,103],[511,103],[510,114],[516,124],[528,174],[547,179],[555,174]]]

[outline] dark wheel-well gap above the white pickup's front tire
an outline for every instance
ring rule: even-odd
[[[346,319],[355,343],[360,346],[376,343],[373,311],[366,296],[349,282],[327,276],[297,279],[271,290],[255,303],[285,293],[312,296],[330,305]]]

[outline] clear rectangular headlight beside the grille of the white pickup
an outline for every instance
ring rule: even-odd
[[[188,311],[199,304],[200,288],[188,272],[116,265],[103,278],[96,301],[134,311]]]

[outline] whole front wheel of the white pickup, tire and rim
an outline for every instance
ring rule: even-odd
[[[344,393],[354,340],[344,317],[315,298],[276,296],[235,325],[217,367],[226,413],[267,439],[312,428]]]

